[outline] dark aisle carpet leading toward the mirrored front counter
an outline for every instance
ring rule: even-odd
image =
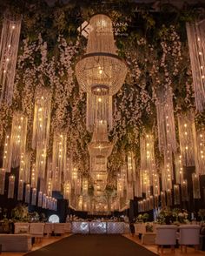
[[[121,235],[76,234],[45,246],[28,256],[155,256]]]

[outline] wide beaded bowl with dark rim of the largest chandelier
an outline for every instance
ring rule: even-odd
[[[87,54],[76,64],[77,81],[87,93],[104,88],[108,95],[114,95],[120,90],[126,74],[126,64],[114,54]]]

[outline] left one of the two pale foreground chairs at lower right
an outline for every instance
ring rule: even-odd
[[[155,244],[157,245],[157,252],[161,247],[163,253],[163,246],[171,246],[171,250],[173,253],[175,252],[176,231],[177,226],[175,225],[156,226]]]

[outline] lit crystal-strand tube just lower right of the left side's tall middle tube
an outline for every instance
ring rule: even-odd
[[[53,189],[61,191],[63,172],[66,169],[66,145],[67,135],[65,133],[56,132],[53,139],[53,157],[52,168],[53,176],[55,177],[53,182]]]

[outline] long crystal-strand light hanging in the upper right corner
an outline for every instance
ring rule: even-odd
[[[205,19],[196,23],[187,23],[186,27],[195,105],[197,111],[203,111],[205,106]]]

